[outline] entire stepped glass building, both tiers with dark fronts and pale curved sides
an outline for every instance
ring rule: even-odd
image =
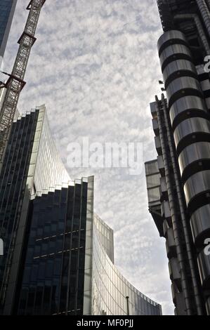
[[[162,314],[117,270],[93,202],[94,178],[70,180],[45,107],[16,119],[0,173],[1,314]]]

